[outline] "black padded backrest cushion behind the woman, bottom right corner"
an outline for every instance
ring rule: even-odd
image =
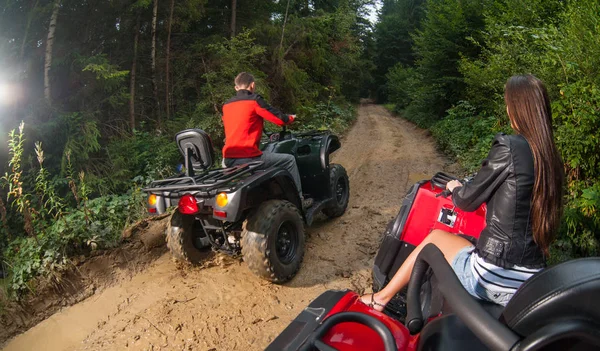
[[[600,328],[600,258],[568,261],[536,274],[519,288],[502,319],[527,336],[565,320],[580,320]]]

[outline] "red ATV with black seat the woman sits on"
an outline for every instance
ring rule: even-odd
[[[387,284],[432,229],[475,241],[485,205],[455,208],[443,173],[415,184],[385,234],[375,259],[373,287]],[[442,252],[427,245],[408,289],[384,313],[359,295],[327,291],[267,347],[267,351],[597,350],[600,349],[600,258],[569,261],[529,279],[506,307],[473,298]],[[407,310],[403,306],[406,302]]]

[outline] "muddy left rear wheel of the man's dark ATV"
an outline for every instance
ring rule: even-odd
[[[207,238],[202,227],[194,216],[181,214],[175,211],[167,227],[167,247],[171,255],[179,261],[192,264],[202,262],[209,250],[206,249]]]

